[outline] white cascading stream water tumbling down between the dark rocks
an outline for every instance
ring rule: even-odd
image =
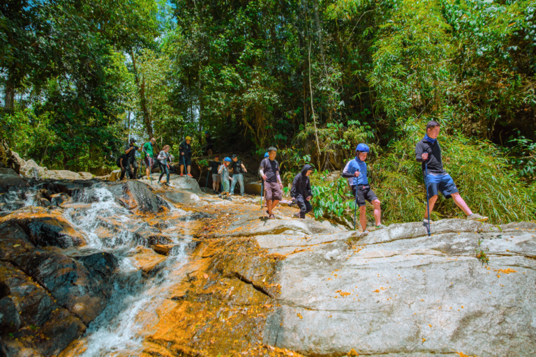
[[[106,309],[89,324],[81,356],[110,356],[126,351],[128,355],[136,355],[142,350],[144,336],[150,333],[148,327],[152,324],[147,312],[154,312],[169,297],[168,288],[181,280],[174,272],[187,261],[186,246],[191,237],[179,237],[173,233],[177,227],[168,227],[166,236],[176,246],[160,264],[158,273],[144,278],[131,260],[137,249],[134,232],[153,227],[117,204],[112,192],[105,187],[81,190],[66,207],[64,215],[87,236],[88,248],[112,252],[119,260],[112,296]],[[114,229],[110,231],[110,227]],[[140,314],[144,314],[143,319]]]

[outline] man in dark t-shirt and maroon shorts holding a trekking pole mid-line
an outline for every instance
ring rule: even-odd
[[[268,158],[260,162],[260,175],[265,180],[265,192],[268,218],[275,219],[276,216],[272,211],[276,208],[283,197],[283,183],[279,176],[279,163],[276,161],[277,148],[271,146],[268,148]]]

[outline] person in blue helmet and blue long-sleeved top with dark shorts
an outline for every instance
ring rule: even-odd
[[[350,183],[350,187],[352,188],[352,195],[354,195],[355,202],[359,206],[359,222],[361,222],[363,232],[366,234],[369,233],[366,229],[366,201],[371,202],[374,207],[375,228],[385,228],[385,225],[382,225],[381,221],[382,211],[380,209],[380,200],[374,191],[371,190],[371,186],[368,185],[366,175],[365,160],[370,151],[366,144],[357,145],[355,148],[355,158],[348,161],[343,170],[343,177],[348,179],[348,183]]]

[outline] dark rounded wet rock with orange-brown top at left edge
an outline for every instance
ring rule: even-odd
[[[85,244],[85,238],[70,225],[60,213],[52,213],[45,208],[23,208],[6,215],[1,222],[14,222],[29,236],[34,245],[46,247],[55,245],[60,248]]]

